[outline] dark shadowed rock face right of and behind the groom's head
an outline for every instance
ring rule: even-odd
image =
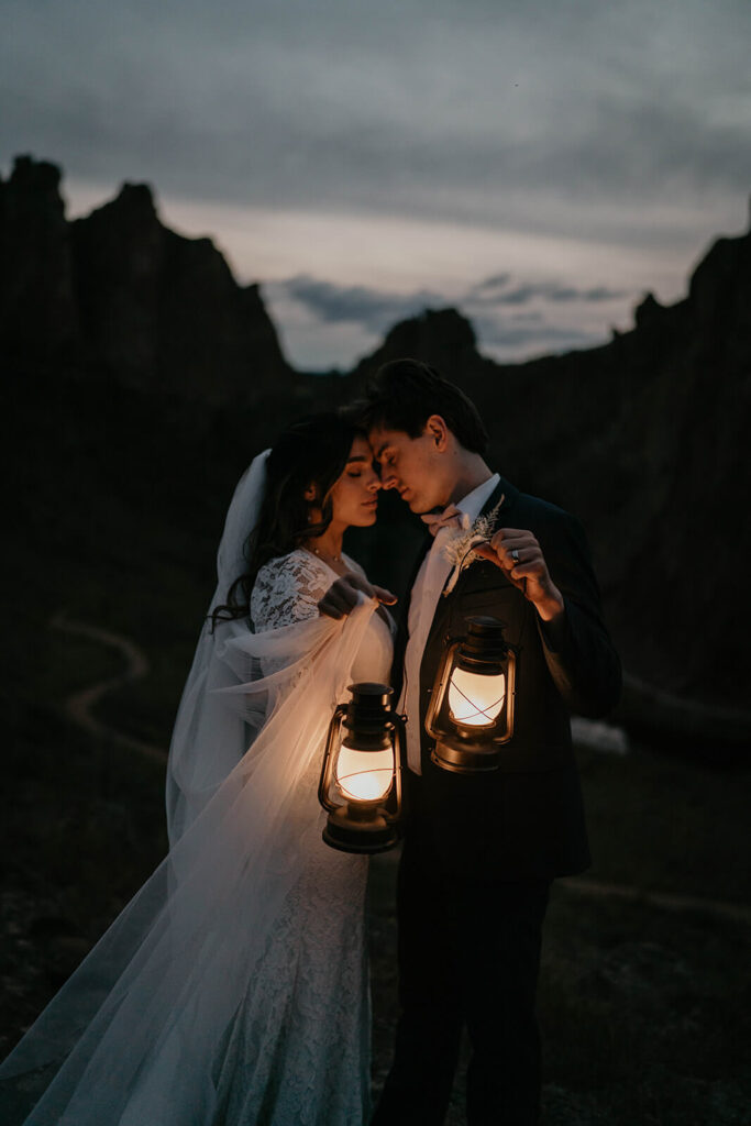
[[[583,520],[629,690],[643,680],[743,708],[750,311],[746,233],[714,244],[683,301],[649,295],[633,331],[604,347],[500,365],[444,310],[396,325],[355,376],[417,356],[457,382],[486,420],[493,464]],[[734,730],[726,718],[718,735]]]

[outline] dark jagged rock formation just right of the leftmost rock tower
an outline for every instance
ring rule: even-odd
[[[125,383],[247,403],[289,379],[258,286],[239,286],[209,239],[164,227],[145,185],[78,220],[73,248],[87,342]]]

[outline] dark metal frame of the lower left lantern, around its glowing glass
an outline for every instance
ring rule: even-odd
[[[373,681],[350,685],[352,699],[339,704],[327,738],[319,801],[328,812],[323,840],[341,852],[385,852],[399,843],[402,835],[404,758],[404,720],[391,706],[393,688]],[[336,778],[339,751],[345,742],[352,750],[378,752],[393,750],[393,776],[386,794],[377,798],[356,798],[342,792]],[[339,789],[341,803],[332,801]]]

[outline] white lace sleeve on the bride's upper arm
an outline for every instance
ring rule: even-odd
[[[318,617],[319,599],[333,579],[310,552],[297,551],[266,563],[253,583],[250,616],[257,633]]]

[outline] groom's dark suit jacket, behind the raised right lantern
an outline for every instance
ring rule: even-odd
[[[563,595],[565,618],[549,631],[500,568],[485,561],[472,563],[452,593],[441,595],[420,669],[422,776],[409,772],[408,833],[421,835],[449,873],[468,879],[552,878],[589,866],[569,714],[609,712],[620,691],[620,663],[601,620],[597,580],[579,522],[503,480],[483,513],[501,494],[506,500],[495,526],[536,535]],[[501,767],[472,776],[430,761],[424,717],[445,642],[462,635],[466,618],[475,614],[504,623],[518,664],[515,730],[502,748]],[[397,644],[400,668],[402,658]]]

